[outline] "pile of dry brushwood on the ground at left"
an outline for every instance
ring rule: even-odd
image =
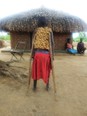
[[[11,66],[10,63],[0,60],[0,77],[11,77],[23,81],[27,78],[26,69],[23,67]]]

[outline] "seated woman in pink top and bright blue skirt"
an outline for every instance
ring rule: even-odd
[[[68,38],[66,42],[66,50],[71,54],[77,54],[77,50],[73,49],[73,45],[71,44],[71,39]]]

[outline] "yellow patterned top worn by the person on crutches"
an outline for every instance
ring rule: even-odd
[[[39,49],[48,49],[49,50],[49,37],[51,28],[48,27],[39,27],[35,33],[34,48]]]

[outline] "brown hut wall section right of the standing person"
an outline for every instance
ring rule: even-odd
[[[54,49],[55,50],[64,50],[66,39],[71,38],[71,33],[56,33],[54,32]]]

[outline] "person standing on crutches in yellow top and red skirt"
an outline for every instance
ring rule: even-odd
[[[38,27],[35,29],[33,36],[33,63],[32,63],[32,78],[33,90],[37,88],[37,80],[43,79],[46,83],[46,89],[49,89],[49,77],[51,70],[51,55],[50,55],[50,42],[53,54],[53,33],[51,28],[47,26],[45,17],[39,17]]]

